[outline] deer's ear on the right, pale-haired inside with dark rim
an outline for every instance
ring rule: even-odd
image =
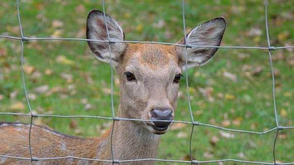
[[[204,22],[187,34],[187,45],[220,46],[225,27],[226,22],[223,17]],[[178,44],[185,45],[184,38]],[[186,60],[184,49],[184,47],[176,47],[183,68],[185,68]],[[218,48],[187,48],[187,67],[205,65],[217,50]]]

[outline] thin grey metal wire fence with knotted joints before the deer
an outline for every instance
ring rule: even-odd
[[[294,162],[289,162],[289,163],[277,163],[276,162],[276,141],[277,137],[279,134],[280,130],[284,129],[294,129],[294,126],[281,126],[279,125],[279,121],[277,118],[277,110],[276,110],[276,94],[275,94],[275,76],[274,76],[274,69],[273,69],[273,62],[272,62],[272,51],[276,49],[290,49],[294,48],[294,46],[289,46],[289,47],[274,47],[271,46],[270,44],[270,38],[269,38],[269,26],[268,26],[268,12],[267,12],[267,6],[268,6],[268,1],[264,1],[264,8],[265,8],[265,25],[266,25],[266,36],[267,36],[267,44],[268,47],[222,47],[222,46],[208,46],[208,45],[183,45],[183,44],[172,44],[172,43],[164,43],[164,42],[145,42],[145,41],[112,41],[110,40],[109,37],[109,32],[108,32],[108,25],[106,21],[106,15],[105,15],[105,1],[102,0],[102,6],[103,6],[103,14],[104,14],[104,21],[106,25],[106,30],[107,30],[107,37],[108,40],[92,40],[92,39],[83,39],[83,38],[54,38],[54,37],[26,37],[23,33],[22,26],[21,26],[21,19],[20,19],[20,13],[19,13],[19,0],[17,0],[17,13],[18,13],[18,23],[19,23],[19,29],[20,29],[20,37],[17,36],[5,36],[5,35],[0,35],[0,38],[6,38],[6,39],[16,39],[20,40],[21,43],[21,78],[22,78],[22,84],[23,84],[23,89],[24,89],[24,94],[25,98],[27,101],[28,109],[30,111],[30,114],[21,114],[21,113],[0,113],[0,115],[22,115],[22,116],[30,116],[31,117],[31,122],[30,122],[30,129],[29,129],[29,150],[30,150],[30,157],[18,157],[18,156],[8,156],[8,155],[0,155],[0,157],[4,158],[13,158],[13,159],[19,159],[19,160],[31,160],[31,163],[35,161],[41,161],[41,160],[56,160],[56,159],[81,159],[81,160],[88,160],[88,161],[97,161],[97,162],[108,162],[112,164],[119,164],[119,163],[126,163],[126,162],[143,162],[143,161],[160,161],[160,162],[175,162],[175,163],[187,163],[187,164],[204,164],[204,163],[217,163],[217,162],[238,162],[238,163],[248,163],[248,164],[263,164],[263,165],[294,165]],[[184,43],[186,43],[186,28],[185,28],[185,0],[182,0],[182,15],[183,15],[183,31],[184,31]],[[105,42],[109,43],[109,52],[110,52],[110,69],[111,69],[111,112],[112,112],[112,117],[103,117],[103,116],[91,116],[91,115],[42,115],[42,114],[36,114],[32,111],[31,109],[31,104],[30,100],[27,94],[27,88],[26,88],[26,83],[25,83],[25,75],[24,75],[24,69],[23,69],[23,63],[24,63],[24,58],[23,58],[23,43],[25,41],[30,41],[30,40],[76,40],[76,41],[95,41],[95,42]],[[191,116],[191,121],[176,121],[176,120],[170,120],[170,122],[174,123],[184,123],[184,124],[191,124],[191,133],[190,133],[190,139],[189,139],[189,152],[190,152],[190,161],[182,161],[182,160],[166,160],[166,159],[136,159],[136,160],[116,160],[115,157],[113,157],[113,150],[115,148],[112,148],[112,136],[113,136],[113,130],[114,130],[114,124],[115,122],[118,122],[120,120],[129,120],[129,121],[153,121],[153,120],[143,120],[143,119],[133,119],[133,118],[120,118],[115,116],[114,113],[114,107],[113,107],[113,69],[112,69],[112,60],[111,60],[111,49],[110,49],[110,44],[115,44],[115,43],[144,43],[144,44],[162,44],[162,45],[175,45],[175,46],[180,46],[184,47],[184,55],[187,56],[187,49],[193,48],[193,47],[205,47],[205,48],[219,48],[219,49],[267,49],[269,53],[269,61],[270,61],[270,67],[271,67],[271,74],[272,74],[272,80],[273,80],[273,106],[274,106],[274,112],[275,112],[275,119],[276,119],[276,127],[272,128],[268,131],[265,132],[253,132],[253,131],[246,131],[246,130],[235,130],[235,129],[227,129],[215,125],[210,125],[210,124],[205,124],[201,123],[198,121],[194,120],[192,110],[191,110],[191,104],[190,104],[190,97],[189,97],[189,84],[188,84],[188,74],[187,74],[187,69],[185,69],[185,79],[186,79],[186,94],[187,94],[187,100],[188,100],[188,110]],[[187,68],[187,58],[185,61],[185,67]],[[65,157],[45,157],[45,158],[39,158],[35,157],[32,155],[32,148],[31,148],[31,129],[32,129],[32,123],[34,117],[60,117],[60,118],[77,118],[77,117],[85,117],[85,118],[97,118],[97,119],[108,119],[108,120],[113,120],[112,128],[111,128],[111,133],[110,133],[110,149],[111,149],[111,160],[100,160],[100,159],[89,159],[89,158],[81,158],[81,157],[74,157],[74,156],[65,156]],[[167,121],[167,120],[156,120],[156,121]],[[241,133],[250,133],[250,134],[258,134],[258,135],[263,135],[269,132],[274,132],[276,131],[276,136],[274,140],[274,145],[273,145],[273,163],[267,163],[267,162],[258,162],[258,161],[245,161],[245,160],[237,160],[237,159],[221,159],[221,160],[210,160],[210,161],[199,161],[199,160],[193,160],[192,157],[192,150],[191,150],[191,145],[192,145],[192,137],[193,137],[193,130],[195,126],[204,126],[204,127],[211,127],[211,128],[216,128],[224,131],[230,131],[230,132],[241,132]]]

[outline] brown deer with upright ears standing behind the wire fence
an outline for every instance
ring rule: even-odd
[[[118,75],[120,101],[116,116],[144,121],[115,121],[102,136],[91,138],[66,135],[47,126],[33,124],[32,156],[36,158],[74,156],[119,161],[156,158],[161,135],[168,131],[174,119],[182,72],[186,68],[205,65],[218,48],[98,42],[97,40],[125,40],[125,34],[116,20],[99,10],[92,10],[89,13],[86,26],[88,45],[93,54],[102,62],[111,62]],[[225,19],[217,17],[192,29],[177,44],[220,46],[225,28]],[[0,155],[31,158],[28,144],[29,128],[30,124],[1,122]],[[112,131],[113,157],[110,149]],[[0,157],[0,164],[5,165],[31,163],[111,165],[114,162],[74,158],[31,162],[31,159]],[[120,164],[154,165],[155,161],[120,162]]]

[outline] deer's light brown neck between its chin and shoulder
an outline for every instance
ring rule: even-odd
[[[129,118],[124,115],[124,109],[120,106],[118,117]],[[156,158],[156,152],[159,145],[160,135],[149,132],[142,124],[136,121],[120,120],[114,122],[112,134],[113,159],[115,160],[133,160]],[[111,129],[107,136],[102,136],[97,151],[98,159],[112,160],[110,150]],[[137,164],[132,162],[131,164]],[[154,162],[140,162],[144,165],[152,165]],[[129,164],[128,164],[129,165]]]

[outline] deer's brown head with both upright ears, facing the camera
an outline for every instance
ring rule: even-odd
[[[118,23],[106,15],[109,37],[112,41],[124,40]],[[212,19],[194,28],[187,34],[189,45],[219,46],[225,30],[222,17]],[[105,20],[101,11],[93,10],[87,20],[87,38],[108,41]],[[177,107],[177,96],[182,71],[187,66],[206,64],[217,48],[185,48],[155,44],[128,44],[88,41],[90,49],[103,62],[110,63],[120,80],[121,117],[153,122],[136,122],[155,134],[167,131]],[[181,39],[178,44],[184,44]]]

